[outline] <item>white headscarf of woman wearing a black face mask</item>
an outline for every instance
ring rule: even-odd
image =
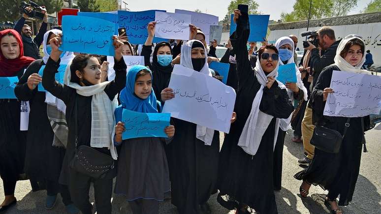
[[[191,69],[193,69],[192,53],[191,52],[192,52],[193,42],[195,42],[195,41],[201,43],[200,41],[193,39],[193,40],[188,41],[187,43],[185,43],[185,45],[183,45],[181,47],[180,64],[183,65],[184,67],[188,67]],[[203,73],[203,74],[208,75],[208,76],[212,76],[212,73],[210,72],[209,66],[208,66],[208,59],[206,56],[207,52],[206,52],[205,47],[204,47],[204,51],[205,51],[205,64],[201,68],[200,73]],[[208,145],[208,146],[212,145],[213,136],[214,136],[214,130],[213,129],[207,128],[205,126],[197,125],[197,127],[196,127],[196,138],[204,141],[205,145]]]

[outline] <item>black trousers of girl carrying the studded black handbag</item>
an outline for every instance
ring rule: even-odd
[[[69,190],[71,200],[82,214],[92,214],[89,201],[90,184],[94,183],[97,214],[111,214],[112,179],[93,179],[70,169]]]

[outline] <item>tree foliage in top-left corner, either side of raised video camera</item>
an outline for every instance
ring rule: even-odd
[[[23,0],[5,0],[0,4],[0,22],[15,21],[21,17],[20,4]],[[38,5],[44,5],[48,13],[54,13],[61,10],[63,0],[34,0]]]

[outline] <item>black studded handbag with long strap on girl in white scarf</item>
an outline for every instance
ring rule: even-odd
[[[77,97],[74,103],[75,117],[75,155],[70,162],[70,167],[75,171],[95,179],[103,179],[108,173],[114,171],[114,159],[91,147],[81,145],[78,147],[78,108]],[[109,176],[107,176],[109,177]],[[113,177],[113,176],[111,176]]]

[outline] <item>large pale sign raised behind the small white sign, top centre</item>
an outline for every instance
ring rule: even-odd
[[[179,10],[175,9],[175,13],[182,13],[191,15],[191,24],[200,28],[201,31],[205,34],[205,41],[208,43],[210,41],[210,26],[218,25],[218,16],[213,16],[206,13],[197,13],[188,10]],[[187,39],[188,40],[188,39]]]

